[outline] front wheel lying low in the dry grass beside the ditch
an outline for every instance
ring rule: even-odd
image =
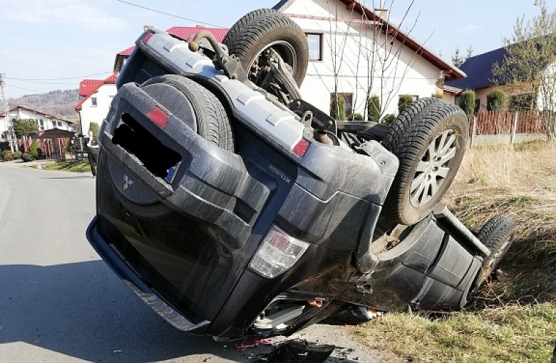
[[[500,264],[505,253],[510,248],[515,237],[515,222],[505,216],[495,216],[490,219],[477,233],[479,241],[490,250],[490,256],[483,260],[483,265],[475,278],[475,286],[480,286],[487,280]]]

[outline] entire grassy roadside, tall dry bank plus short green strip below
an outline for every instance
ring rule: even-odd
[[[549,362],[556,342],[556,142],[469,149],[444,202],[471,229],[496,214],[518,234],[467,312],[388,314],[354,328],[406,362]],[[409,358],[411,357],[411,359]]]

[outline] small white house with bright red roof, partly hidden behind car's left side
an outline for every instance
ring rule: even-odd
[[[115,80],[117,75],[113,74],[105,80],[82,80],[79,83],[79,95],[83,97],[76,105],[79,113],[81,128],[80,135],[87,135],[91,122],[100,126],[108,114],[110,103],[116,94]]]

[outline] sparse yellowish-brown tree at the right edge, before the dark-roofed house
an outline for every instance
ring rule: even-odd
[[[535,1],[540,14],[518,19],[514,35],[505,38],[506,55],[493,65],[495,83],[512,96],[510,107],[537,110],[549,139],[556,136],[556,11],[545,0]]]

